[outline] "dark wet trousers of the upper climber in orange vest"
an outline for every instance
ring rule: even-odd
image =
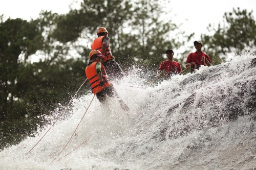
[[[114,59],[105,61],[102,63],[102,65],[105,67],[106,74],[108,75],[108,79],[110,81],[124,77],[121,67]]]

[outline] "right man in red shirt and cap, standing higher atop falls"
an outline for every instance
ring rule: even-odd
[[[196,69],[199,69],[200,65],[211,66],[211,60],[209,56],[202,51],[202,46],[203,46],[202,42],[195,41],[194,46],[197,51],[195,53],[190,53],[187,56],[187,60],[186,60],[186,67],[188,67],[189,65],[191,66],[191,70],[190,70],[191,73],[195,72],[195,67]]]

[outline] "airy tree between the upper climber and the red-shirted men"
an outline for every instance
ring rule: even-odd
[[[115,53],[122,64],[144,64],[156,69],[164,60],[167,48],[181,45],[175,43],[170,33],[177,29],[169,18],[161,20],[165,12],[157,1],[135,1],[131,19],[127,21],[129,33],[123,33],[116,41],[119,42]]]

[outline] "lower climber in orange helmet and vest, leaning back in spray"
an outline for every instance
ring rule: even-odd
[[[105,101],[106,95],[112,98],[116,97],[122,109],[124,111],[129,111],[130,109],[119,97],[115,88],[113,87],[113,84],[108,80],[105,68],[101,64],[101,59],[104,59],[104,57],[105,56],[103,56],[98,50],[93,50],[89,54],[90,60],[85,71],[92,91],[101,103]]]

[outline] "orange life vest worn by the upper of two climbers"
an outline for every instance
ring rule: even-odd
[[[98,50],[101,52],[102,39],[104,37],[106,37],[106,36],[100,36],[92,42],[92,44],[91,44],[92,50]],[[102,62],[105,62],[105,61],[111,60],[112,58],[115,58],[114,56],[112,56],[110,44],[106,44],[105,54],[103,54],[103,55],[105,56],[105,58],[103,59]]]

